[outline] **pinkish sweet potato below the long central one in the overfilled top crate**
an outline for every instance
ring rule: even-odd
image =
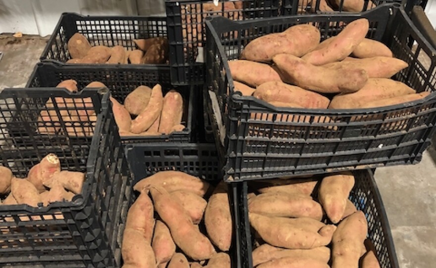
[[[316,92],[287,85],[283,82],[267,82],[253,93],[254,97],[268,102],[295,103],[309,109],[326,109],[330,100]]]

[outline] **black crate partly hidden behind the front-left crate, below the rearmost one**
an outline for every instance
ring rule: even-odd
[[[74,79],[77,87],[83,89],[93,81],[99,81],[109,88],[110,94],[119,102],[124,103],[124,98],[138,86],[153,88],[160,84],[163,93],[174,89],[169,81],[168,67],[124,65],[106,68],[104,66],[70,66],[55,63],[42,62],[35,66],[32,75],[27,82],[28,88],[55,87],[60,81]],[[196,86],[184,86],[175,88],[183,97],[182,122],[186,128],[180,132],[158,136],[122,136],[121,141],[126,143],[135,142],[159,142],[177,141],[189,142],[193,138],[193,130],[196,126],[195,98],[198,91]],[[17,126],[19,127],[19,126]],[[22,128],[15,132],[22,133]]]

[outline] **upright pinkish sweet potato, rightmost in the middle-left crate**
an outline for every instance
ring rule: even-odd
[[[180,125],[183,116],[183,98],[179,92],[171,89],[163,98],[159,132],[169,134],[172,127]]]

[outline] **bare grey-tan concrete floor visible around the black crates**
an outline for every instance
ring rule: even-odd
[[[24,87],[47,39],[0,35],[0,90]],[[436,267],[436,150],[420,164],[379,168],[376,180],[389,219],[400,268]]]

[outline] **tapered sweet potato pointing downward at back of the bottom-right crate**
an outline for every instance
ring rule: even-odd
[[[332,223],[342,219],[353,186],[351,173],[327,176],[321,181],[318,198]]]

